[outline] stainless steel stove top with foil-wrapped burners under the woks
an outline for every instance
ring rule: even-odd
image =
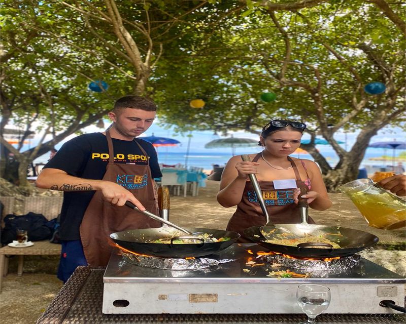
[[[327,313],[398,313],[380,306],[382,300],[404,306],[406,280],[366,259],[359,259],[356,266],[341,273],[326,274],[328,270],[323,270],[310,272],[306,278],[281,278],[267,275],[286,267],[273,267],[272,263],[246,264],[258,251],[264,248],[234,244],[208,256],[234,261],[185,271],[137,266],[113,254],[103,277],[103,313],[302,313],[296,303],[296,289],[303,283],[330,288]]]

